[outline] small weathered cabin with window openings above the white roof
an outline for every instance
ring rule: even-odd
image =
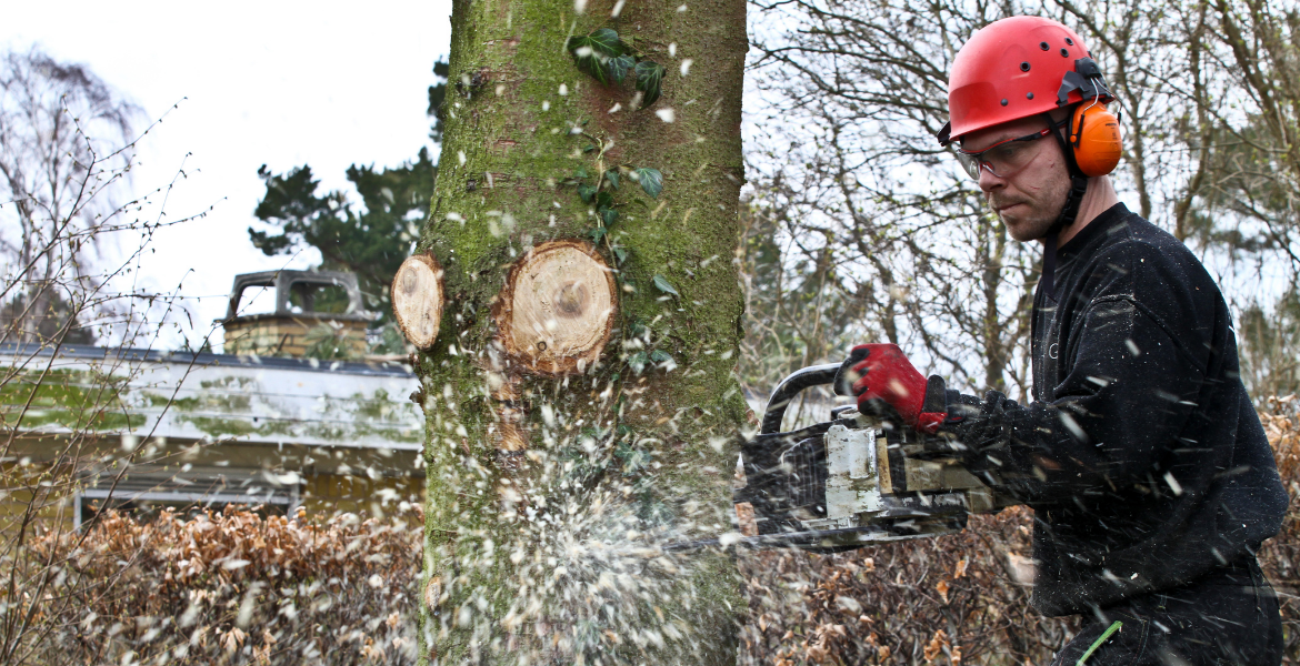
[[[276,310],[263,314],[239,315],[239,300],[250,287],[274,287]],[[316,312],[316,296],[321,288],[341,287],[347,292],[347,309],[342,313]],[[296,295],[300,305],[291,304]],[[235,275],[230,290],[230,306],[225,327],[225,353],[289,356],[300,358],[311,343],[308,332],[322,325],[334,330],[348,356],[365,354],[365,327],[376,319],[361,305],[361,290],[351,273],[322,270],[273,270]]]

